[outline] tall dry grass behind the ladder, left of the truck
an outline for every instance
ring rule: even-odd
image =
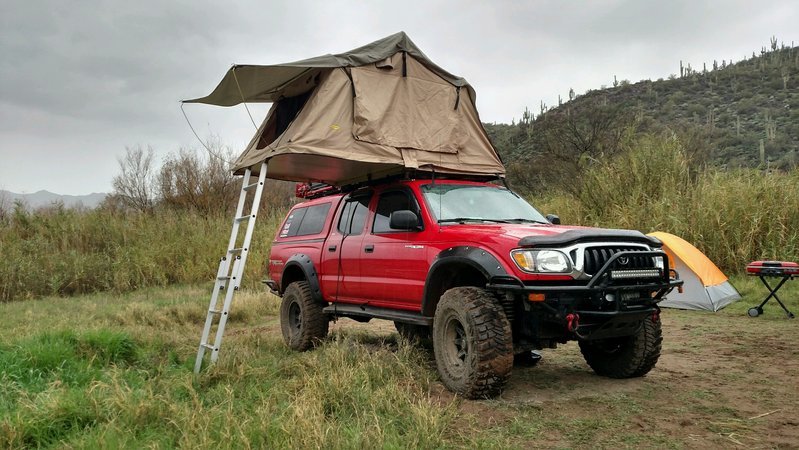
[[[259,218],[244,277],[248,285],[263,277],[283,212]],[[232,215],[18,207],[2,222],[0,301],[9,301],[212,280]]]

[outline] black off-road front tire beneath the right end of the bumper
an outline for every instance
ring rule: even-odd
[[[580,341],[585,361],[597,375],[634,378],[646,375],[660,358],[663,336],[660,321],[646,318],[632,336]]]

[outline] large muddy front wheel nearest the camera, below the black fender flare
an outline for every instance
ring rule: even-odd
[[[488,291],[458,287],[441,296],[433,321],[441,381],[466,398],[498,395],[513,368],[508,319]]]

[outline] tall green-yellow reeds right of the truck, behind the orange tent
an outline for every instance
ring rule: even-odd
[[[799,260],[799,170],[695,167],[673,136],[626,146],[585,169],[578,194],[534,203],[564,223],[675,234],[733,273],[756,259]]]

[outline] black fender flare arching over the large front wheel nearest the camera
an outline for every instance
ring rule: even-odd
[[[424,283],[424,296],[422,298],[422,315],[432,316],[438,302],[437,287],[433,286],[436,276],[441,270],[451,264],[465,264],[479,271],[487,280],[491,277],[507,275],[508,272],[502,263],[490,252],[474,246],[450,247],[436,256]]]

